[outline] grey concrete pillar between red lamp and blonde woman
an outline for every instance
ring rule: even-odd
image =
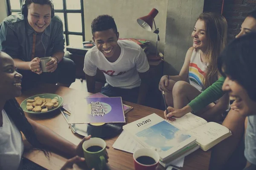
[[[164,74],[177,75],[186,51],[192,46],[191,33],[203,12],[204,0],[168,0]]]

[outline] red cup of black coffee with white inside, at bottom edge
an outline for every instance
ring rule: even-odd
[[[142,148],[133,154],[135,170],[155,170],[160,157],[155,150]]]

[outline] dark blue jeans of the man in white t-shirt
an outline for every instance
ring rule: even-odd
[[[132,89],[116,88],[111,85],[102,87],[101,93],[109,97],[122,97],[127,102],[137,103],[140,87]]]

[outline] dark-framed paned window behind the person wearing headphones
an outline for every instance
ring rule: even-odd
[[[7,0],[10,14],[20,13],[23,0]],[[84,36],[84,5],[83,0],[52,0],[55,15],[63,22],[63,31],[66,39],[65,45],[81,45]]]

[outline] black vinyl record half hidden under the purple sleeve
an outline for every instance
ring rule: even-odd
[[[106,139],[121,133],[123,125],[125,123],[71,124],[71,127],[81,136],[91,135]]]

